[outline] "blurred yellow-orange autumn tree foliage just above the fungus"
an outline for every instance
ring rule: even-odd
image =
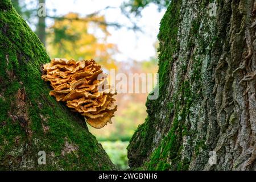
[[[112,55],[117,47],[106,42],[110,35],[107,26],[93,22],[105,22],[105,18],[94,15],[83,19],[76,13],[69,13],[63,19],[56,19],[47,29],[49,55],[76,60],[94,58],[106,69],[116,69]],[[92,33],[89,30],[93,30]],[[96,37],[97,33],[100,38]]]

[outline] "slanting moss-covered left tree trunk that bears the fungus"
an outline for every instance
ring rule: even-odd
[[[49,57],[10,0],[0,1],[0,60],[0,169],[115,168],[84,119],[49,96]]]

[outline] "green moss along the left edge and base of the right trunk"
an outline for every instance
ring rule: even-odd
[[[159,102],[164,100],[166,97],[166,90],[168,86],[168,82],[170,81],[168,76],[170,73],[170,68],[172,67],[172,60],[174,59],[174,53],[178,51],[179,43],[177,42],[177,32],[179,27],[179,21],[180,21],[180,7],[181,7],[181,1],[172,1],[171,5],[168,7],[166,14],[164,15],[161,25],[160,25],[160,32],[158,35],[158,38],[160,40],[160,47],[159,47],[159,98],[157,100],[147,100],[146,106],[147,106],[147,113],[148,118],[146,119],[146,122],[138,128],[138,130],[135,132],[134,137],[131,139],[130,146],[128,147],[128,151],[134,150],[139,146],[139,143],[143,143],[144,140],[147,141],[146,146],[148,151],[151,148],[152,140],[148,140],[147,138],[144,138],[144,136],[155,135],[155,132],[151,132],[148,129],[152,130],[152,126],[154,126],[154,123],[158,123],[158,118],[155,117],[155,113],[158,113],[162,107],[159,105]],[[184,69],[187,67],[185,66]],[[185,98],[180,100],[179,96],[182,95],[182,93],[185,93]],[[170,132],[166,137],[160,141],[160,145],[152,152],[152,154],[149,156],[150,160],[147,163],[144,163],[145,169],[157,169],[157,170],[166,170],[171,169],[171,165],[167,163],[167,160],[171,160],[172,162],[178,161],[177,158],[180,158],[179,151],[181,151],[182,145],[180,144],[182,139],[182,130],[184,125],[184,117],[185,117],[185,109],[184,113],[181,112],[181,115],[177,113],[177,110],[181,110],[181,102],[189,102],[191,104],[191,99],[189,98],[190,89],[189,89],[189,83],[184,82],[183,86],[181,86],[181,89],[179,93],[176,93],[173,100],[169,102],[168,104],[168,110],[170,110],[170,114],[167,115],[166,121],[168,119],[171,119],[170,116],[171,113],[176,110],[175,118],[173,118],[173,122],[171,125]],[[189,105],[188,104],[188,105]],[[182,119],[179,119],[179,118]],[[139,135],[138,135],[139,134]],[[136,137],[135,137],[136,136]],[[137,140],[138,136],[141,139],[140,141]],[[147,140],[146,140],[147,139]],[[136,141],[133,143],[133,141]],[[144,145],[145,146],[145,145]],[[144,147],[143,146],[143,147]],[[145,153],[146,156],[144,156],[143,159],[148,157],[148,152]],[[129,156],[129,160],[131,161],[131,156]],[[138,160],[138,159],[137,159]],[[172,169],[177,168],[172,167]]]

